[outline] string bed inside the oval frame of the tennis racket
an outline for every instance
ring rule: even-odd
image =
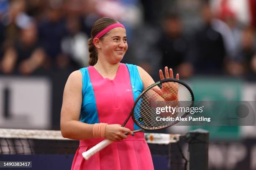
[[[156,114],[157,108],[162,107],[189,107],[192,96],[187,87],[177,82],[167,82],[164,85],[152,87],[144,93],[134,108],[135,121],[145,129],[160,129],[172,125],[177,116],[182,116],[185,111],[161,112]],[[184,102],[181,102],[184,101]],[[177,108],[178,109],[178,108]],[[159,111],[159,109],[158,109]],[[170,117],[174,119],[171,120]],[[160,118],[165,118],[159,121]],[[169,118],[169,119],[168,119]]]

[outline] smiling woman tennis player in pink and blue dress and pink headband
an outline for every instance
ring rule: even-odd
[[[153,170],[144,133],[131,132],[136,129],[132,119],[125,128],[120,124],[138,95],[154,80],[141,67],[120,63],[128,45],[125,27],[117,20],[100,18],[91,35],[90,66],[70,74],[61,108],[63,137],[80,140],[72,170]],[[173,78],[167,67],[165,77],[162,70],[159,74],[161,80]],[[116,142],[84,160],[82,153],[104,139]]]

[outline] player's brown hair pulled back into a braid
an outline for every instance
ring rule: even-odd
[[[102,30],[107,28],[111,24],[119,23],[117,20],[113,18],[100,18],[98,19],[92,26],[92,32],[91,37],[88,40],[88,47],[90,52],[90,60],[89,65],[95,65],[98,61],[98,52],[96,50],[96,47],[93,45],[92,40],[93,38]],[[104,37],[103,35],[102,37]],[[100,37],[100,40],[102,40],[102,37]]]

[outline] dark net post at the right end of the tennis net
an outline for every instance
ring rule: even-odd
[[[209,132],[197,129],[187,133],[189,142],[189,170],[208,170]]]

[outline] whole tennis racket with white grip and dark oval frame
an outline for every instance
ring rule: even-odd
[[[177,79],[160,80],[146,88],[138,96],[122,127],[132,116],[133,121],[141,128],[133,130],[133,133],[167,128],[179,122],[180,119],[176,119],[176,117],[186,117],[189,113],[186,112],[187,107],[190,110],[193,104],[194,95],[186,83]],[[170,107],[173,109],[170,109]],[[179,107],[184,109],[179,109]],[[108,139],[98,143],[82,153],[84,159],[88,160],[110,143],[113,143],[113,141]]]

